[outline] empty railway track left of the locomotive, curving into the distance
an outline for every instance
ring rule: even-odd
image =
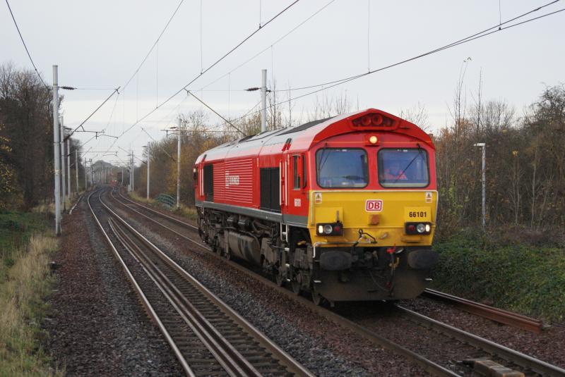
[[[88,205],[150,318],[189,376],[312,376],[93,192]]]

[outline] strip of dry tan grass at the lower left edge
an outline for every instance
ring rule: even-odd
[[[61,376],[52,371],[40,346],[44,297],[52,278],[49,256],[57,240],[47,235],[32,235],[26,247],[13,251],[14,264],[6,268],[0,281],[0,376]]]

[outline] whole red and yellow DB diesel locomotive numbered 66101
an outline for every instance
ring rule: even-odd
[[[316,304],[417,297],[437,263],[434,144],[384,111],[222,144],[194,182],[203,240]]]

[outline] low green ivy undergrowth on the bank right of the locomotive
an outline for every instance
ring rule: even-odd
[[[565,251],[463,231],[434,248],[434,287],[549,321],[565,319]]]

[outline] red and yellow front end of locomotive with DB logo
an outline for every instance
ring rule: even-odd
[[[376,130],[335,135],[311,149],[309,162],[314,301],[420,295],[437,262],[429,137]]]

